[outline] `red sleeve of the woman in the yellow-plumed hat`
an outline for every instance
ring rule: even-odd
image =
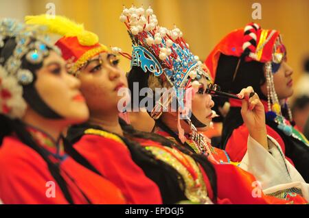
[[[124,143],[85,134],[74,147],[122,191],[129,204],[162,204],[157,184],[133,162]]]

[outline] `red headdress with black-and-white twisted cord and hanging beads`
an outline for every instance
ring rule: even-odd
[[[254,60],[264,63],[268,100],[268,112],[266,113],[266,117],[275,121],[281,119],[282,110],[273,82],[273,74],[278,71],[286,56],[286,48],[282,43],[282,36],[279,32],[274,29],[262,29],[260,25],[256,23],[249,23],[244,29],[236,29],[229,33],[216,45],[205,61],[214,79],[216,75],[218,75],[218,60],[221,53],[226,56],[235,56],[239,58],[235,71],[229,72],[233,74],[231,83],[237,76],[240,62],[251,62]],[[287,101],[286,107],[288,108]],[[288,115],[290,121],[292,121],[289,108]],[[278,125],[278,128],[282,128],[286,134],[292,133],[292,130],[284,125],[283,121],[277,122],[281,123]]]

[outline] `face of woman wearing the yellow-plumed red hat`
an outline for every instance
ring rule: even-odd
[[[108,114],[117,109],[118,101],[122,99],[117,95],[118,90],[128,87],[126,75],[119,69],[118,62],[113,54],[101,53],[80,70],[80,90],[92,114]]]

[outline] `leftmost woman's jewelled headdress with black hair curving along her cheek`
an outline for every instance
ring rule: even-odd
[[[43,117],[60,119],[34,86],[36,70],[49,50],[60,55],[41,30],[12,19],[0,20],[0,114],[10,119],[21,119],[27,104]]]

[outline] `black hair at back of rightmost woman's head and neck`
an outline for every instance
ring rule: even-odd
[[[240,61],[240,64],[236,72],[236,77],[233,80],[233,73],[236,71],[238,61]],[[237,94],[240,93],[242,88],[252,86],[253,90],[259,95],[260,99],[267,100],[267,97],[261,90],[261,86],[265,82],[266,78],[264,75],[264,63],[257,61],[245,62],[242,58],[240,59],[235,56],[226,56],[223,53],[220,54],[214,83],[218,84],[222,91]],[[220,114],[217,107],[222,106],[226,101],[228,101],[228,99],[218,97],[213,97],[212,99],[215,102],[215,107],[213,110],[216,110],[216,112]],[[218,147],[225,149],[227,141],[229,140],[233,130],[244,123],[241,117],[240,108],[229,108],[227,117],[225,117],[225,119],[221,119],[220,121],[223,121],[223,129],[221,143]]]

